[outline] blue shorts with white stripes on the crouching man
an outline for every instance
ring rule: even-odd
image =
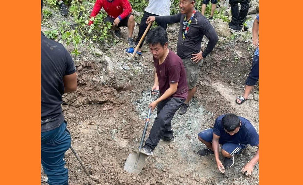
[[[207,130],[204,130],[198,134],[198,137],[203,139],[206,142],[212,142],[213,141],[213,129],[209,128]],[[225,150],[229,153],[229,155],[234,156],[235,154],[240,154],[240,150],[245,148],[246,145],[244,144],[236,144],[236,143],[229,143],[224,141],[223,139],[219,138],[219,144],[222,145],[221,149]]]

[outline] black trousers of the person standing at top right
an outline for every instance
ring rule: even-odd
[[[241,5],[241,10],[239,12],[238,3]],[[230,7],[232,9],[232,21],[229,26],[240,25],[243,26],[243,23],[246,19],[248,9],[249,9],[249,0],[229,0]]]

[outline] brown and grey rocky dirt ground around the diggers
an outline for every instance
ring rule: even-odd
[[[57,10],[52,10],[54,14]],[[71,17],[53,16],[48,22]],[[220,22],[213,20],[212,24]],[[169,47],[176,51],[178,24],[169,25]],[[45,31],[49,28],[41,26]],[[226,30],[224,30],[226,32]],[[134,36],[138,33],[138,26]],[[250,71],[253,47],[249,31],[221,35],[220,41],[205,58],[197,92],[186,114],[176,113],[172,120],[176,142],[160,142],[154,155],[148,157],[139,175],[124,171],[124,163],[132,149],[140,143],[144,120],[148,113],[149,91],[153,84],[152,55],[144,48],[136,63],[127,61],[127,28],[122,29],[121,42],[109,45],[95,44],[94,50],[79,46],[79,56],[73,56],[77,68],[78,89],[63,96],[63,113],[71,131],[72,146],[91,176],[86,176],[75,155],[65,153],[70,185],[96,184],[259,184],[259,163],[253,174],[240,173],[256,147],[248,147],[235,157],[235,165],[225,174],[218,171],[214,156],[199,157],[196,152],[205,148],[197,134],[212,127],[214,120],[224,113],[246,117],[259,133],[259,89],[251,92],[250,99],[238,105],[235,98],[242,95]],[[63,43],[64,44],[64,43]],[[205,48],[207,39],[203,39]],[[64,44],[64,46],[66,46]],[[66,46],[71,50],[71,46]],[[152,114],[146,137],[156,113]],[[222,156],[221,156],[221,159]],[[47,177],[41,168],[41,185]]]

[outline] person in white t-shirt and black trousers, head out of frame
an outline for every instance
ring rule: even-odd
[[[138,45],[141,37],[143,36],[143,33],[145,32],[147,28],[146,20],[149,16],[169,16],[169,7],[170,7],[170,0],[149,0],[148,6],[144,10],[143,17],[141,18],[141,23],[139,27],[138,37],[136,39],[136,46]],[[157,22],[158,26],[161,26],[166,30],[167,23],[160,23]],[[149,31],[149,30],[148,30]],[[148,33],[148,32],[147,32]],[[141,47],[144,43],[145,38],[142,40],[139,48],[138,53],[141,53]]]

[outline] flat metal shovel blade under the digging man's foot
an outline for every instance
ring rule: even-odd
[[[128,155],[127,160],[124,165],[124,170],[129,173],[134,173],[138,175],[145,162],[147,160],[148,155],[145,155],[139,151],[132,150],[131,153]]]

